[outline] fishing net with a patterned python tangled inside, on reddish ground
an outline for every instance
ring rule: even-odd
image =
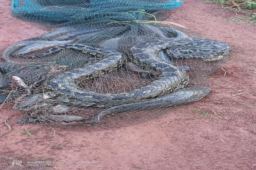
[[[19,123],[115,127],[203,98],[231,48],[164,22],[180,3],[13,0],[16,17],[61,27],[3,50],[0,103]]]

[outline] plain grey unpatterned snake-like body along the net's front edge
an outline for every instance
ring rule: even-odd
[[[145,108],[165,108],[165,107],[174,107],[178,105],[185,105],[187,103],[195,102],[202,99],[210,92],[208,87],[185,87],[182,89],[177,89],[176,91],[157,97],[154,99],[144,99],[135,103],[121,104],[118,106],[113,106],[108,109],[103,110],[102,112],[93,116],[91,120],[86,120],[81,118],[77,120],[78,122],[72,122],[73,120],[62,122],[62,125],[79,125],[85,123],[97,123],[103,117],[110,114],[114,115],[118,112],[128,112],[132,110],[139,110]]]

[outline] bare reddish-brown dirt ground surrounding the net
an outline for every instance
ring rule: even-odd
[[[1,0],[1,4],[1,49],[47,32],[40,29],[39,24],[10,16],[9,0]],[[222,66],[227,75],[219,69],[208,76],[212,92],[207,97],[151,121],[121,128],[94,131],[55,128],[55,137],[36,143],[33,142],[38,139],[18,129],[28,128],[37,136],[49,136],[52,129],[14,123],[22,113],[6,105],[0,110],[1,122],[8,115],[17,114],[10,119],[12,130],[0,137],[0,169],[255,170],[255,25],[223,21],[236,14],[198,0],[184,0],[171,14],[170,21],[187,26],[204,38],[223,41],[233,47]],[[233,93],[244,94],[232,97]],[[207,111],[210,117],[198,119],[203,116],[191,109]],[[0,132],[5,130],[1,124]],[[23,163],[12,166],[12,161]],[[29,161],[34,166],[26,166]],[[43,167],[37,166],[40,163],[35,161],[60,163],[52,162],[59,166]],[[68,162],[61,163],[63,161]]]

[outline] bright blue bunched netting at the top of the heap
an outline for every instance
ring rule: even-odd
[[[16,17],[28,21],[67,26],[94,20],[145,20],[148,11],[170,10],[181,3],[180,0],[12,0],[11,8]]]

